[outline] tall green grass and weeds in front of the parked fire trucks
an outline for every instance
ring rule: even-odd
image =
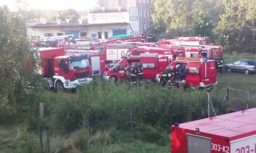
[[[210,94],[214,110],[225,113],[225,89],[214,88]],[[35,90],[23,100],[29,100],[25,103],[29,105],[19,112],[26,128],[22,133],[27,134],[17,140],[22,140],[20,152],[40,149],[39,126],[50,129],[51,152],[166,151],[170,150],[168,133],[174,122],[207,117],[206,89],[162,89],[157,84],[130,87],[96,80],[75,94]],[[44,103],[44,119],[38,117],[40,103]]]

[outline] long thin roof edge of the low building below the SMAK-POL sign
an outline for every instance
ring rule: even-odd
[[[106,24],[79,24],[78,22],[71,22],[71,23],[61,23],[57,24],[57,22],[51,22],[47,24],[35,24],[30,25],[29,27],[61,27],[61,26],[83,26],[83,25],[109,25],[109,24],[129,24],[127,22],[113,22],[113,23],[106,23]]]

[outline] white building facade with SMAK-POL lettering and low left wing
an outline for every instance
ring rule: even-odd
[[[97,10],[88,14],[88,24],[81,20],[77,23],[52,22],[33,24],[28,27],[28,36],[32,40],[42,40],[45,36],[61,36],[74,34],[74,37],[83,38],[92,36],[105,40],[109,36],[120,34],[140,35],[140,21],[138,8],[118,8],[116,10]]]

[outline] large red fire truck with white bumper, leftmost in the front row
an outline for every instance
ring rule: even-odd
[[[63,48],[36,48],[41,68],[52,89],[63,91],[92,82],[92,66],[87,55],[65,55]]]

